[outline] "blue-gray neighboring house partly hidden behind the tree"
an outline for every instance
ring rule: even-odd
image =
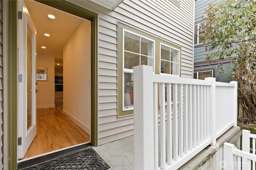
[[[216,3],[218,0],[195,0],[195,34],[194,34],[194,79],[205,77],[216,77],[216,81],[230,82],[228,75],[231,73],[232,63],[228,59],[222,61],[225,75],[220,75],[218,59],[205,61],[207,47],[200,41],[200,26],[204,24],[203,13],[209,7],[208,4]],[[202,47],[201,47],[202,46]]]

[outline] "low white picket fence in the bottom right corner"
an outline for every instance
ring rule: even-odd
[[[250,142],[252,141],[252,145]],[[234,148],[234,144],[225,142],[223,145],[223,168],[224,170],[255,170],[256,134],[251,134],[249,130],[242,130],[242,150]],[[252,146],[252,152],[250,152]]]

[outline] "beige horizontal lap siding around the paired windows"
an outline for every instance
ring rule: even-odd
[[[69,2],[98,14],[98,144],[133,134],[133,115],[117,116],[118,22],[182,48],[182,77],[192,78],[193,3],[181,0],[124,0],[114,11],[90,1]]]

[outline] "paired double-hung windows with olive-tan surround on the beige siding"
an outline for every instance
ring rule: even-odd
[[[181,47],[118,23],[118,117],[133,114],[133,67],[180,76],[180,58]]]

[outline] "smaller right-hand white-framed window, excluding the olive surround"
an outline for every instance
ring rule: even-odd
[[[161,43],[161,73],[180,75],[180,50]]]

